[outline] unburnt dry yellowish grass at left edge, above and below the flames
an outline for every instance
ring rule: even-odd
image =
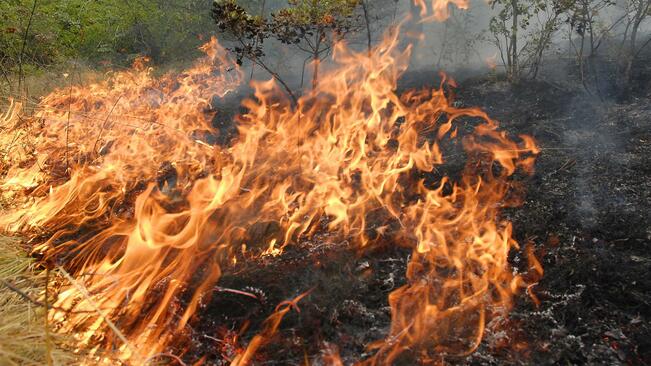
[[[0,115],[9,105],[10,98],[20,100],[23,113],[30,115],[38,109],[40,98],[56,88],[66,89],[105,78],[103,71],[75,64],[26,76],[20,93],[15,90],[17,80],[10,79],[11,87],[5,80],[0,80]],[[16,204],[13,195],[0,194],[0,214]],[[61,284],[65,279],[58,270],[47,278],[45,271],[37,268],[27,252],[18,239],[0,234],[0,366],[78,365],[84,360],[93,363],[73,352],[71,335],[56,333],[46,325],[46,282],[50,284],[48,299],[51,304],[56,297],[56,289],[52,288],[54,280]],[[110,352],[106,353],[102,358],[111,364],[106,361],[111,359]]]

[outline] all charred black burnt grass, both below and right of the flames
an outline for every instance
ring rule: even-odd
[[[427,80],[438,85],[433,74],[412,73],[401,88]],[[456,94],[458,105],[484,109],[513,136],[529,134],[542,148],[534,175],[523,178],[523,205],[503,215],[518,242],[535,247],[545,273],[532,287],[538,306],[521,293],[508,318],[487,325],[473,354],[434,361],[651,364],[651,94],[602,101],[546,82],[510,86],[486,78],[462,82]],[[260,230],[258,236],[268,231]],[[280,257],[229,269],[222,290],[202,304],[185,342],[171,352],[228,364],[277,304],[309,290],[256,363],[324,364],[328,347],[345,364],[370,357],[367,345],[389,331],[387,295],[405,283],[410,251],[385,243],[356,253],[322,232]],[[525,259],[513,253],[512,262],[522,267]],[[395,362],[420,363],[409,352]]]

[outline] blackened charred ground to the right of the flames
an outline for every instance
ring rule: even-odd
[[[508,215],[545,275],[540,307],[520,301],[511,315],[528,357],[479,359],[651,363],[651,99],[602,102],[544,83],[505,90],[479,83],[463,100],[543,148],[525,204]]]

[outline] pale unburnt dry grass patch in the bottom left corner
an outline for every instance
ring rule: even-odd
[[[0,237],[0,365],[73,365],[79,360],[66,348],[65,335],[46,330],[45,309],[25,298],[43,299],[45,279],[17,240]]]

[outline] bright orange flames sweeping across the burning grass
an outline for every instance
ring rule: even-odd
[[[389,296],[390,334],[369,345],[368,363],[472,352],[487,319],[528,286],[508,262],[518,244],[500,210],[517,204],[511,177],[539,151],[481,110],[454,107],[444,83],[398,94],[410,53],[398,43],[393,33],[370,54],[337,45],[295,105],[273,80],[253,81],[224,146],[210,143],[211,98],[235,90],[241,72],[214,39],[178,75],[156,78],[142,60],[53,92],[27,123],[14,103],[0,138],[19,134],[24,152],[3,160],[2,184],[27,200],[0,224],[71,273],[55,304],[71,311],[50,313],[59,331],[143,362],[200,316],[229,266],[328,230],[359,250],[413,249],[407,284]],[[427,181],[454,144],[467,158],[460,177]],[[260,224],[273,229],[261,237]],[[234,363],[249,362],[304,295],[281,304]]]

